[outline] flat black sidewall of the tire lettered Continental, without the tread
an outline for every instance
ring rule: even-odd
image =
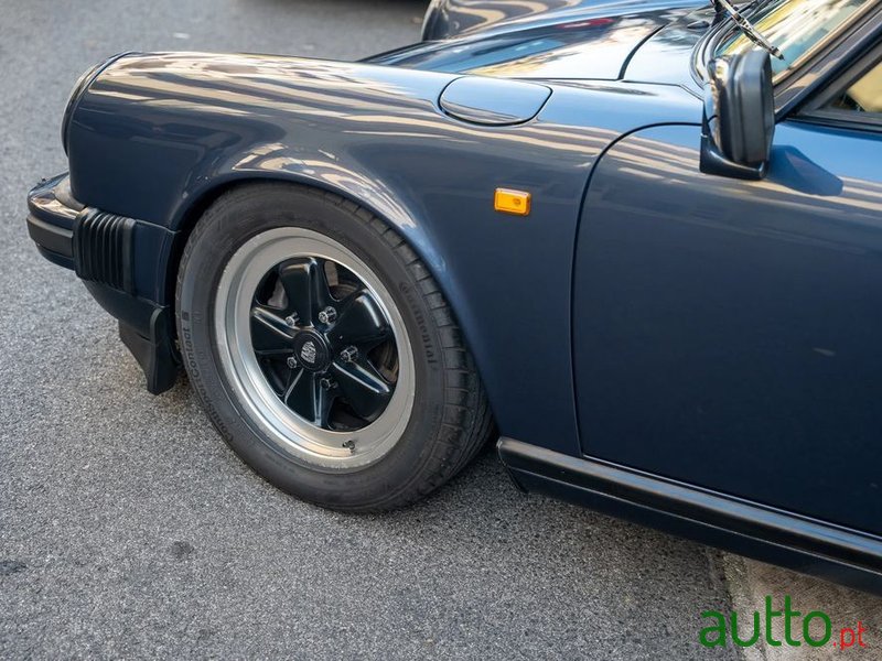
[[[400,238],[369,213],[312,189],[286,185],[256,188],[222,196],[187,243],[178,288],[179,337],[186,371],[227,443],[270,483],[332,507],[369,507],[419,480],[429,462],[444,452],[444,351],[431,323],[432,311],[420,293],[419,281],[395,249]],[[335,472],[294,459],[250,420],[219,367],[214,313],[224,267],[246,241],[279,227],[318,231],[353,251],[384,283],[405,322],[415,362],[410,420],[396,445],[362,469]]]

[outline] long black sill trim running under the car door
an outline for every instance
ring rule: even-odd
[[[882,595],[876,535],[513,438],[497,449],[524,490]]]

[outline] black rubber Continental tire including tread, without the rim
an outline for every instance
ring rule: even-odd
[[[255,420],[219,362],[215,292],[225,266],[250,238],[305,228],[355,253],[395,301],[411,338],[415,405],[400,440],[377,462],[337,472],[292,457]],[[234,188],[202,216],[184,249],[176,289],[181,350],[209,419],[236,454],[278,488],[316,505],[380,511],[430,494],[476,454],[492,415],[452,310],[407,242],[353,202],[304,186]]]

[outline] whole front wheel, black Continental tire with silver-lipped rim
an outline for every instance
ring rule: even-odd
[[[400,507],[491,425],[452,312],[413,251],[341,197],[259,184],[220,196],[181,261],[190,379],[233,449],[336,509]]]

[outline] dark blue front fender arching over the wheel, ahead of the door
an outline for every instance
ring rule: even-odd
[[[577,453],[570,258],[591,164],[647,121],[698,121],[700,105],[675,87],[577,83],[555,86],[534,121],[475,126],[438,106],[455,78],[290,57],[125,57],[79,102],[74,195],[172,230],[235,181],[283,178],[358,199],[456,301],[499,427]],[[533,98],[537,86],[513,87]],[[530,192],[530,216],[494,212],[498,186]],[[172,254],[166,245],[136,268],[168,270]],[[162,304],[171,279],[157,282]],[[553,339],[537,351],[537,338]]]

